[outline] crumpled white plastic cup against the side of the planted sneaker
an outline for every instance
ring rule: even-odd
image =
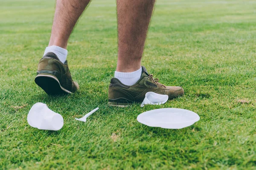
[[[155,92],[147,92],[145,98],[140,105],[144,107],[145,104],[153,104],[153,105],[160,105],[166,103],[168,101],[168,95],[160,95]]]

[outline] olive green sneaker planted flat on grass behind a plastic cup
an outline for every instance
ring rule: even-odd
[[[169,99],[184,95],[184,90],[179,86],[165,86],[159,79],[153,78],[142,66],[140,80],[132,86],[122,84],[117,78],[112,78],[108,88],[108,105],[126,107],[134,102],[142,102],[147,92],[168,95]]]

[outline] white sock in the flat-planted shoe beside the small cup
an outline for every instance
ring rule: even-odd
[[[141,77],[142,68],[135,72],[117,72],[115,71],[115,78],[127,86],[134,85]]]

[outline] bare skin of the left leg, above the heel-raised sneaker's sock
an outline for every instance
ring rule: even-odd
[[[67,41],[90,0],[56,0],[52,34],[48,46],[67,49]]]

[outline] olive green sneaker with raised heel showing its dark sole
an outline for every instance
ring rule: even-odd
[[[48,95],[73,93],[79,89],[79,85],[71,78],[67,61],[62,63],[52,52],[39,61],[35,83]]]

